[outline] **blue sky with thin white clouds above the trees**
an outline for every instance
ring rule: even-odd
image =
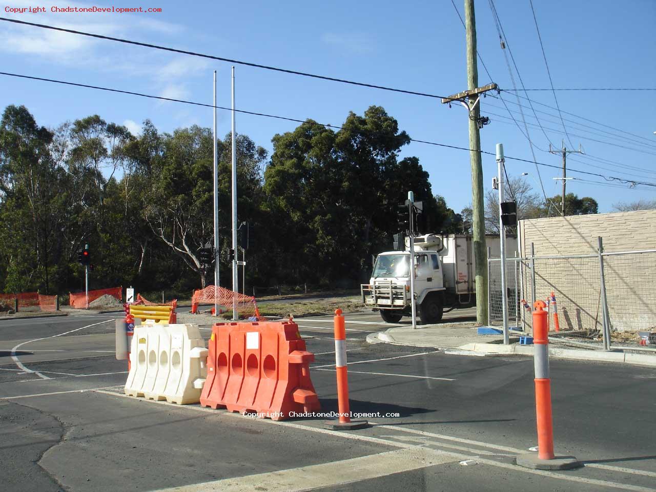
[[[462,1],[455,3],[462,14]],[[621,8],[617,1],[611,0],[534,0],[533,3],[555,87],[656,87],[655,1],[629,0]],[[525,87],[550,87],[529,1],[497,0],[495,4]],[[5,0],[0,15],[411,91],[449,95],[466,88],[464,28],[450,0],[405,3],[149,0],[140,5],[160,7],[163,11],[150,14],[5,12],[5,7],[30,5],[47,10],[53,5],[139,6],[138,3],[123,5],[106,1]],[[488,1],[476,1],[476,20],[478,51],[492,81],[502,89],[512,89]],[[218,105],[230,106],[228,63],[7,22],[0,22],[0,67],[3,72],[209,104],[212,102],[212,72],[217,70]],[[349,111],[362,113],[377,104],[396,117],[400,128],[412,138],[468,146],[466,111],[457,105],[449,109],[431,98],[239,65],[236,77],[239,109],[298,119],[311,117],[321,123],[339,125]],[[479,64],[480,85],[489,81]],[[518,110],[512,104],[517,102],[512,93],[502,96],[511,110]],[[656,131],[653,118],[656,91],[565,91],[557,92],[557,96],[560,108],[566,112],[638,135],[630,136],[564,114],[571,120],[565,121],[571,141],[575,146],[581,143],[586,152],[586,157],[571,156],[568,167],[656,182],[656,134],[653,133]],[[529,97],[555,106],[551,92],[529,92]],[[521,103],[527,104],[527,101],[521,100]],[[107,121],[123,123],[133,131],[138,131],[140,123],[147,118],[161,131],[192,124],[212,125],[210,108],[0,76],[0,108],[8,104],[26,105],[37,121],[47,126],[94,113]],[[535,109],[550,113],[538,113],[548,138],[557,145],[562,139],[567,143],[556,111],[544,106],[535,106]],[[483,150],[494,152],[495,144],[502,142],[506,155],[531,159],[527,139],[508,119],[500,100],[485,98],[482,112],[492,120],[481,132]],[[538,127],[530,126],[537,123],[531,110],[524,112],[531,139],[542,149],[535,150],[537,161],[560,165],[560,157],[544,152],[549,145],[546,136]],[[516,113],[515,117],[523,126],[520,114]],[[219,112],[218,125],[220,136],[228,133],[230,113]],[[237,115],[237,131],[248,134],[269,150],[274,134],[290,131],[295,126],[291,122]],[[471,202],[468,152],[412,143],[403,149],[402,155],[420,158],[424,169],[430,173],[434,194],[443,195],[453,209],[460,211]],[[602,163],[596,160],[598,158],[607,161]],[[510,175],[529,173],[529,183],[539,190],[535,165],[508,160],[506,167]],[[496,169],[494,157],[484,155],[486,189],[491,186]],[[546,194],[558,194],[560,184],[552,178],[558,176],[559,171],[545,167],[540,171]],[[568,175],[602,180],[574,172]],[[571,180],[567,190],[596,198],[602,212],[611,211],[612,205],[619,201],[656,199],[656,188],[644,186],[630,189],[627,185],[601,186]]]

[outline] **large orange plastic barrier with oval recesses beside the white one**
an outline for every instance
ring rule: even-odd
[[[314,354],[293,321],[216,323],[208,349],[203,407],[273,420],[321,408],[310,379]]]

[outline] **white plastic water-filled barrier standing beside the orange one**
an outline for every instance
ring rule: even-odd
[[[195,325],[146,322],[134,327],[125,394],[198,403],[207,377],[207,348]]]

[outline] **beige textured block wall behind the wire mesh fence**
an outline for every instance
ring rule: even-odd
[[[635,211],[522,220],[520,254],[582,255],[656,249],[656,211]],[[598,258],[536,260],[536,297],[554,291],[564,329],[602,327]],[[611,327],[617,331],[656,331],[656,253],[605,256],[604,274]],[[529,274],[524,295],[530,299]]]

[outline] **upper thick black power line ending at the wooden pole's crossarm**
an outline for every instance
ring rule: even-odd
[[[171,48],[171,47],[166,47],[166,46],[161,46],[161,45],[154,45],[152,43],[141,43],[140,41],[132,41],[131,39],[123,39],[120,37],[112,37],[112,36],[105,36],[101,34],[96,34],[96,33],[90,33],[90,32],[85,32],[85,31],[76,31],[72,29],[64,29],[64,28],[58,28],[56,26],[47,26],[46,24],[36,24],[35,22],[26,22],[24,20],[16,20],[16,19],[10,19],[6,17],[0,17],[0,20],[4,20],[5,22],[14,22],[15,24],[24,24],[25,26],[33,26],[35,28],[42,28],[42,29],[49,29],[53,31],[61,31],[61,32],[68,32],[71,34],[79,34],[82,36],[89,36],[89,37],[95,37],[97,39],[106,39],[108,41],[117,41],[118,43],[126,43],[128,45],[136,45],[136,46],[142,46],[146,48],[152,48],[152,49],[157,49],[157,50],[162,50],[162,51],[170,51],[174,53],[180,53],[180,54],[188,54],[190,56],[199,56],[201,58],[209,58],[210,60],[218,60],[220,62],[229,62],[229,63],[234,63],[238,65],[245,65],[249,67],[255,67],[255,68],[262,68],[264,70],[273,70],[274,72],[283,72],[283,73],[291,73],[292,75],[300,75],[302,77],[311,77],[313,79],[321,79],[321,80],[327,80],[327,81],[332,81],[332,82],[339,82],[343,84],[350,84],[350,85],[357,85],[359,87],[369,87],[370,89],[380,89],[382,91],[392,91],[392,92],[401,92],[402,94],[413,94],[414,96],[424,96],[424,97],[430,97],[430,98],[435,98],[435,99],[443,99],[445,96],[440,96],[438,94],[428,94],[426,92],[417,92],[417,91],[407,91],[405,89],[397,89],[394,87],[386,87],[384,85],[376,85],[376,84],[369,84],[369,83],[363,83],[363,82],[356,82],[352,80],[347,80],[347,79],[338,79],[337,77],[328,77],[327,75],[317,75],[316,73],[308,73],[308,72],[298,72],[297,70],[289,70],[286,68],[280,68],[280,67],[274,67],[274,66],[269,66],[269,65],[262,65],[258,63],[252,63],[252,62],[244,62],[242,60],[233,60],[232,58],[223,58],[222,56],[214,56],[211,54],[203,54],[203,53],[198,53],[194,51],[186,51],[186,50],[181,50],[177,48]]]

